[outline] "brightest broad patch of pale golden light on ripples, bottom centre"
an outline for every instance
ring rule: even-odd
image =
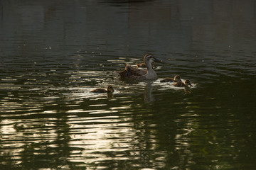
[[[132,127],[132,123],[122,123],[117,116],[86,118],[85,120],[72,118],[70,128],[75,132],[70,135],[72,140],[69,145],[82,149],[81,162],[90,164],[105,161],[111,159],[104,154],[105,152],[123,152],[131,149],[132,138],[136,135]],[[115,159],[129,159],[129,157],[121,154]]]

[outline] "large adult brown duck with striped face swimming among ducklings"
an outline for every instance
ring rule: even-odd
[[[157,74],[151,66],[152,62],[161,62],[161,61],[156,59],[154,55],[145,55],[144,64],[146,64],[147,70],[138,69],[137,67],[131,67],[130,65],[127,65],[124,71],[118,72],[119,76],[122,79],[135,79],[135,80],[157,79]]]

